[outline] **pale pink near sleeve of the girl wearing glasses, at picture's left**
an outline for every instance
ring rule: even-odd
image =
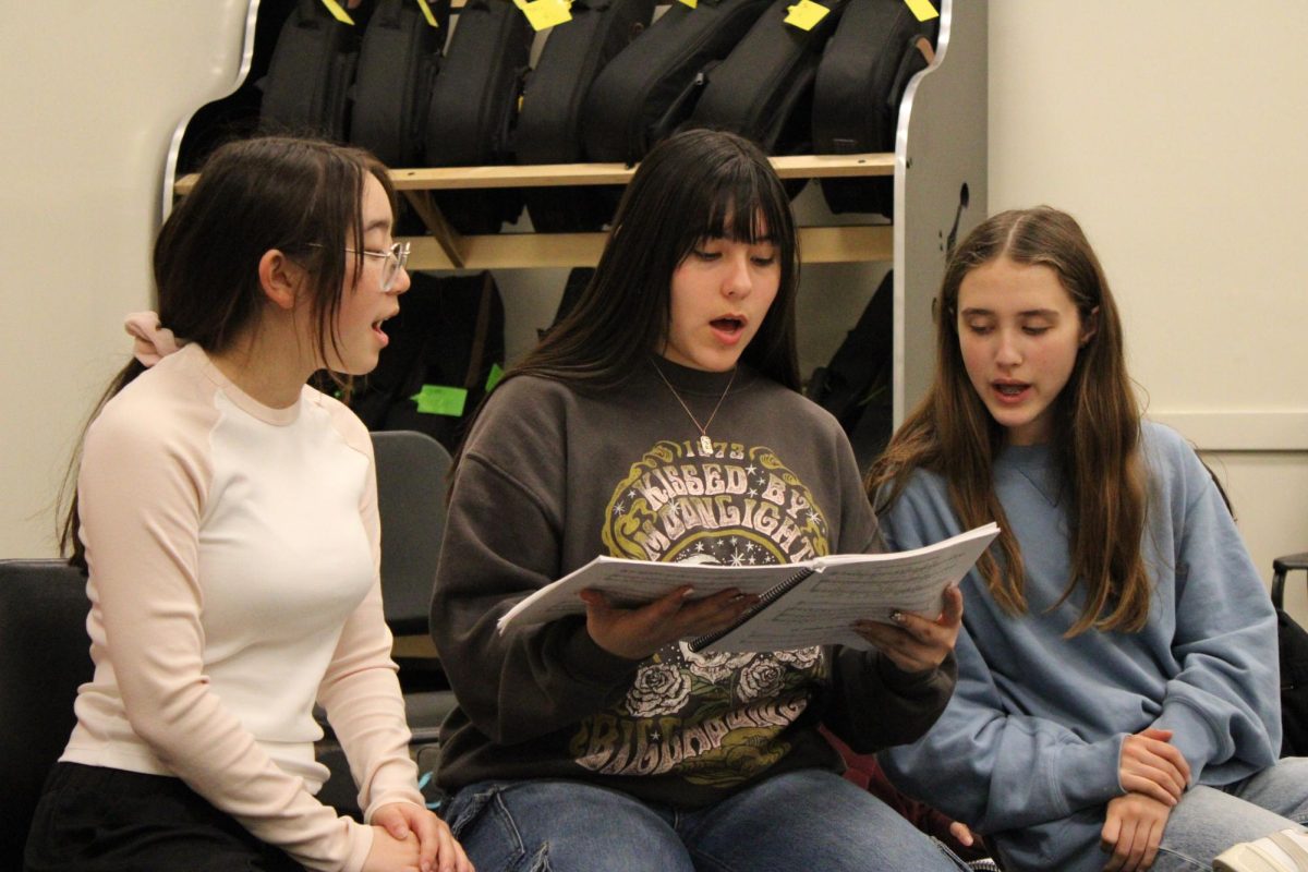
[[[92,608],[128,722],[160,762],[259,839],[311,869],[358,869],[370,828],[319,803],[209,688],[198,552],[212,472],[201,438],[161,430],[102,414],[78,476]]]

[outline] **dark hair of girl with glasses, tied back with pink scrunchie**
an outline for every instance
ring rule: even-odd
[[[195,188],[169,214],[154,239],[160,324],[178,340],[222,353],[254,328],[263,301],[259,260],[281,251],[309,273],[306,293],[318,328],[314,350],[337,349],[336,312],[347,269],[362,269],[364,183],[381,182],[391,207],[386,167],[368,152],[315,140],[262,137],[230,143],[205,161]],[[132,360],[110,382],[92,420],[145,367]],[[81,448],[78,442],[77,455]],[[75,459],[64,490],[78,465]],[[60,548],[85,567],[76,494],[60,528]]]

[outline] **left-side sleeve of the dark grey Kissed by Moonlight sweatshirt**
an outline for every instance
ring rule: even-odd
[[[515,386],[492,395],[455,473],[430,628],[459,707],[493,743],[513,745],[600,709],[640,663],[595,645],[582,617],[504,635],[496,626],[561,571],[561,512],[545,494],[564,489],[522,477],[566,475],[561,435],[547,421],[527,421],[521,407],[496,414],[521,396],[506,388]],[[479,434],[494,443],[489,452]],[[521,459],[513,472],[504,450]]]

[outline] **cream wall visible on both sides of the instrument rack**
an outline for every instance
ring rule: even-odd
[[[54,553],[72,441],[126,360],[122,315],[149,303],[169,136],[234,84],[245,5],[0,0],[0,556]],[[990,209],[1042,201],[1082,220],[1151,414],[1220,450],[1207,458],[1270,574],[1273,556],[1308,549],[1308,4],[1232,9],[993,0]],[[833,319],[803,307],[810,344],[833,346],[870,293],[838,286],[848,275],[823,277],[848,303]],[[549,302],[525,306],[538,281]],[[515,336],[548,320],[561,281],[502,280]]]

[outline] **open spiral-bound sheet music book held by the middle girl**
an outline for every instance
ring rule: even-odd
[[[500,631],[583,613],[578,594],[594,588],[615,605],[637,607],[689,584],[695,596],[739,588],[760,597],[731,629],[692,639],[696,651],[777,651],[812,645],[870,648],[859,618],[891,621],[895,611],[934,616],[940,596],[999,535],[985,524],[926,548],[887,554],[831,554],[800,563],[721,566],[596,557],[518,603]]]

